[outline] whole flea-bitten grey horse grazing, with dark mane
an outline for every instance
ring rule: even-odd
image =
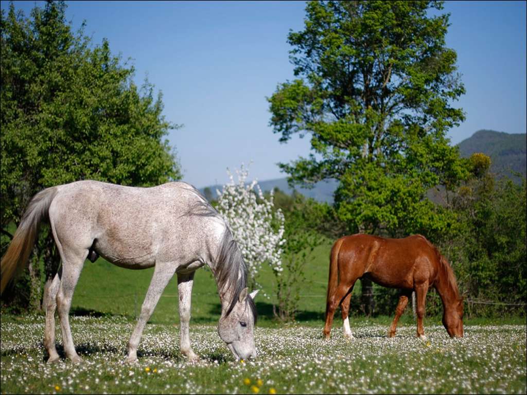
[[[62,262],[45,287],[48,362],[58,360],[55,309],[65,353],[73,362],[81,361],[73,345],[69,312],[84,261],[89,258],[93,262],[98,255],[127,269],[154,266],[128,342],[128,362],[137,360],[144,326],[174,273],[178,277],[181,352],[190,360],[198,358],[190,345],[190,302],[194,272],[205,264],[218,285],[220,338],[236,359],[256,357],[253,298],[257,291],[248,294],[246,265],[227,223],[193,186],[170,182],[142,188],[77,181],[37,193],[2,257],[2,292],[17,268],[27,262],[41,221],[51,225]]]

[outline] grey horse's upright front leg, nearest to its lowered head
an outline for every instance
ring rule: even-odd
[[[178,273],[178,293],[179,293],[179,321],[180,321],[180,349],[181,353],[188,357],[189,361],[196,361],[199,357],[194,353],[190,345],[189,322],[190,306],[192,298],[192,284],[194,273]]]

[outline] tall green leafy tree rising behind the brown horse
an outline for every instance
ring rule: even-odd
[[[289,33],[299,78],[268,98],[270,125],[281,142],[309,134],[313,153],[280,167],[292,183],[339,180],[349,232],[434,239],[454,222],[426,197],[467,174],[445,137],[464,120],[452,106],[464,86],[448,14],[431,9],[442,2],[309,2],[304,30]]]

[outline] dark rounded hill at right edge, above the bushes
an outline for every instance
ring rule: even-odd
[[[491,157],[491,171],[500,175],[511,176],[511,170],[526,174],[527,136],[509,134],[493,130],[479,130],[458,144],[460,154],[469,157],[475,152],[482,152]],[[513,177],[516,179],[517,177]]]

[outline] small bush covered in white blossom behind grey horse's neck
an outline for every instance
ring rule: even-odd
[[[282,245],[286,241],[283,238],[284,214],[280,209],[273,211],[273,192],[266,199],[256,180],[246,185],[249,172],[243,164],[240,170],[236,170],[238,182],[229,170],[227,174],[230,182],[223,185],[221,192],[217,191],[217,209],[238,242],[249,277],[254,281],[264,262],[279,274],[282,271]]]

